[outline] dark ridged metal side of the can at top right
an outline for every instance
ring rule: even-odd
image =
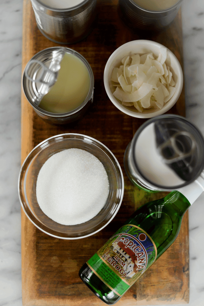
[[[160,30],[168,26],[176,17],[182,0],[178,1],[169,9],[161,11],[150,11],[136,5],[133,0],[119,0],[121,17],[131,28],[140,28],[142,30]]]

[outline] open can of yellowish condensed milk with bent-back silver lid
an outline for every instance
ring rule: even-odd
[[[82,118],[93,102],[94,75],[80,53],[67,47],[51,47],[27,63],[22,87],[43,120],[67,124]]]

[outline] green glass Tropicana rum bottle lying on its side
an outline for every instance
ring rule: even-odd
[[[190,202],[172,191],[141,206],[83,265],[80,278],[106,304],[115,304],[174,242]]]

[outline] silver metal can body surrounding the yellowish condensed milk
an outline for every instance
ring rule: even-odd
[[[54,52],[56,50],[60,49],[60,48],[61,47],[51,47],[51,48],[44,49],[44,50],[38,52],[37,54],[35,54],[32,57],[31,60],[37,60],[39,62],[43,62],[43,64],[48,67],[50,62],[53,59]],[[23,87],[24,94],[25,94],[28,102],[32,105],[35,112],[44,121],[46,121],[50,124],[56,124],[56,125],[58,125],[58,124],[68,124],[68,123],[71,123],[73,121],[79,120],[84,116],[86,110],[91,105],[91,103],[93,103],[94,75],[93,75],[93,71],[91,69],[91,66],[89,65],[87,60],[80,53],[76,52],[75,50],[72,50],[70,48],[66,48],[66,52],[75,55],[76,57],[78,57],[84,63],[84,65],[87,67],[89,77],[90,77],[90,88],[89,88],[87,97],[81,103],[80,106],[78,106],[76,109],[74,109],[74,110],[72,110],[68,113],[62,113],[62,114],[50,113],[46,110],[41,109],[39,106],[36,106],[35,101],[36,101],[36,97],[37,97],[38,92],[39,92],[40,84],[38,84],[38,82],[36,83],[32,80],[29,80],[26,77],[25,71],[23,73],[22,87]],[[27,66],[29,65],[29,62],[27,63]],[[33,79],[36,79],[37,74],[38,74],[38,69],[39,69],[39,65],[34,62],[31,65],[29,65],[28,74]]]

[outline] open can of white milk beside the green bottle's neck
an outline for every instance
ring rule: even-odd
[[[204,168],[204,139],[186,118],[166,114],[139,127],[124,154],[133,185],[145,191],[178,190]]]

